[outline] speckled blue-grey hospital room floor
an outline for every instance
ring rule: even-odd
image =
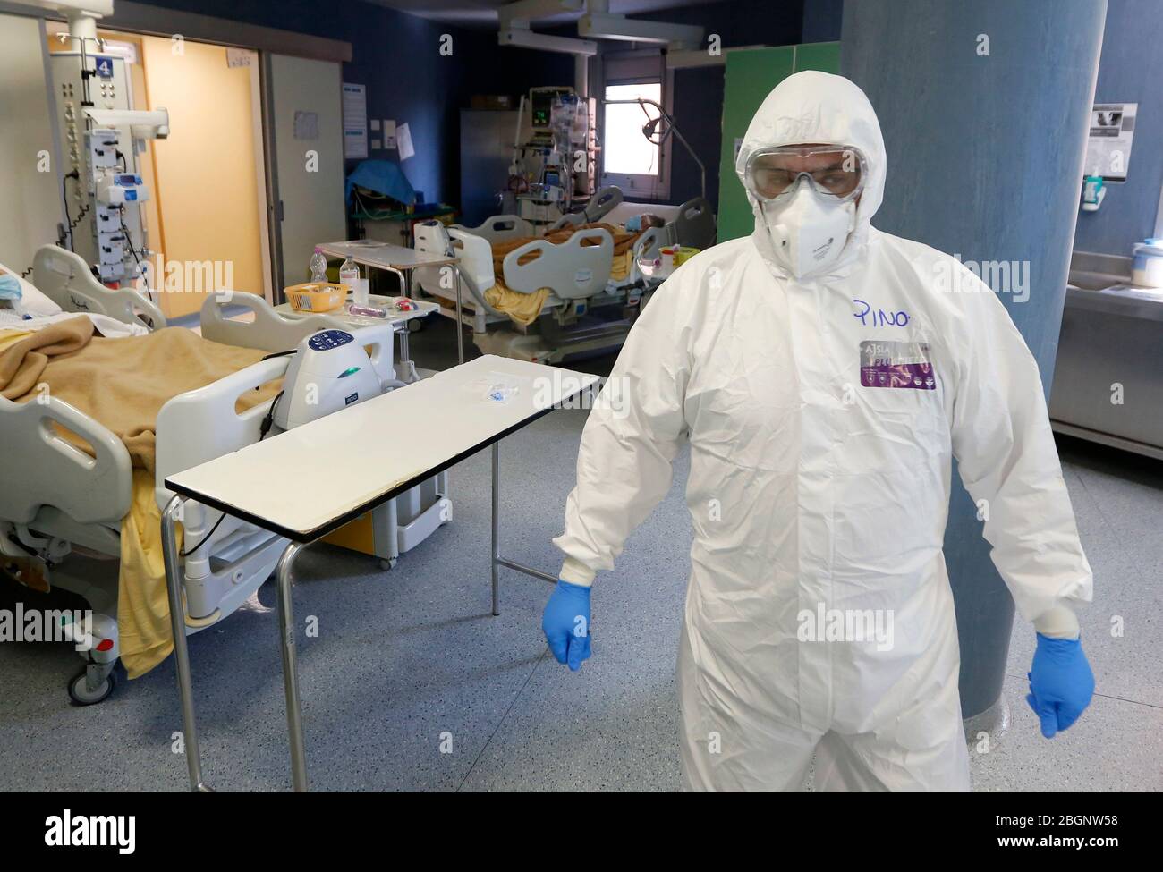
[[[443,322],[413,337],[422,366],[451,364]],[[470,345],[471,348],[471,345]],[[582,366],[606,372],[609,359]],[[583,412],[556,412],[506,441],[504,550],[554,571],[550,544],[573,479]],[[1014,629],[1005,698],[1009,729],[972,756],[978,791],[1163,788],[1163,464],[1061,443],[1084,544],[1098,578],[1082,616],[1099,694],[1054,742],[1026,708],[1033,634]],[[594,593],[595,657],[557,666],[540,630],[549,587],[502,574],[502,614],[488,588],[488,453],[451,472],[454,523],[392,572],[330,546],[300,559],[300,676],[315,789],[657,789],[679,786],[673,660],[690,522],[676,487],[635,534],[616,577]],[[99,571],[78,558],[76,572]],[[105,567],[107,569],[107,567]],[[0,608],[73,606],[0,584]],[[290,786],[274,592],[191,637],[202,756],[217,789]],[[1126,621],[1114,637],[1111,616]],[[181,728],[172,660],[108,701],[74,708],[66,645],[0,645],[0,788],[184,789],[171,751]]]

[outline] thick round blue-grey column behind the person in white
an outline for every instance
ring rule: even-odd
[[[966,264],[1008,263],[1008,279],[986,281],[1037,358],[1047,395],[1105,19],[1106,0],[844,2],[841,71],[872,101],[889,152],[872,223]],[[946,560],[961,699],[965,717],[987,727],[1014,608],[954,480]]]

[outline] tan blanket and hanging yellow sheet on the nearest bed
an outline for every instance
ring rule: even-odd
[[[27,402],[48,385],[115,434],[129,451],[134,489],[121,522],[117,628],[121,660],[130,678],[144,674],[173,650],[162,562],[160,513],[154,495],[155,426],[167,400],[257,363],[263,352],[221,345],[184,328],[147,336],[93,336],[81,316],[36,333],[0,331],[0,395]],[[277,383],[244,394],[240,408],[271,396]],[[62,430],[79,449],[92,449]],[[180,548],[180,543],[179,543]]]

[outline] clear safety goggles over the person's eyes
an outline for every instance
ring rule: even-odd
[[[743,177],[762,201],[790,196],[807,179],[821,196],[843,202],[863,190],[868,162],[851,145],[779,145],[751,155]]]

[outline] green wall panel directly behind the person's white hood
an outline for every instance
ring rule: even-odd
[[[723,140],[719,159],[719,242],[747,236],[754,227],[751,205],[735,176],[735,155],[763,99],[800,70],[840,72],[840,43],[779,45],[728,51],[723,73]]]

